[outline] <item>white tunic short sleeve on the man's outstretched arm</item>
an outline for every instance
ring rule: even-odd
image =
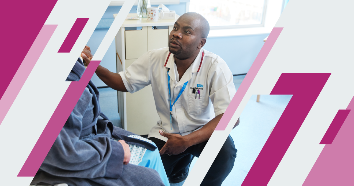
[[[134,93],[151,84],[151,52],[148,51],[134,61],[125,72],[119,72],[125,88]]]

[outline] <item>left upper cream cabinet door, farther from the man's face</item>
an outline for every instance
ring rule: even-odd
[[[141,30],[125,30],[125,59],[137,59],[147,52],[147,27]]]

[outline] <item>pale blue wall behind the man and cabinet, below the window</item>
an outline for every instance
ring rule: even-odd
[[[170,10],[175,10],[178,15],[185,13],[186,3],[178,5],[166,5]],[[93,32],[87,46],[91,47],[91,52],[96,52],[104,35],[107,33],[110,24],[113,22],[113,14],[118,13],[121,6],[109,6],[102,16],[101,22]],[[133,6],[130,13],[136,13],[137,6]],[[244,74],[250,69],[258,52],[261,50],[263,39],[269,34],[232,36],[220,38],[208,38],[204,46],[205,50],[219,55],[228,64],[233,74]],[[107,53],[101,61],[101,65],[112,72],[116,72],[115,40],[113,40]],[[92,77],[96,86],[106,86],[96,74]]]

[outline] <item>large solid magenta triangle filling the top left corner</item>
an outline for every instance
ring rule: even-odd
[[[1,1],[0,15],[3,28],[0,45],[0,99],[56,2],[57,0]],[[21,6],[18,6],[19,3]]]

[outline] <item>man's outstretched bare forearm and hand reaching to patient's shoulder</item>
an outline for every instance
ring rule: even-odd
[[[88,49],[90,49],[90,47]],[[92,59],[91,51],[88,49],[85,47],[81,53],[81,57],[86,62],[87,66],[89,66],[89,63]],[[96,74],[98,78],[101,79],[110,88],[121,92],[128,92],[128,90],[125,88],[122,77],[118,73],[110,72],[107,68],[99,65],[96,69]]]

